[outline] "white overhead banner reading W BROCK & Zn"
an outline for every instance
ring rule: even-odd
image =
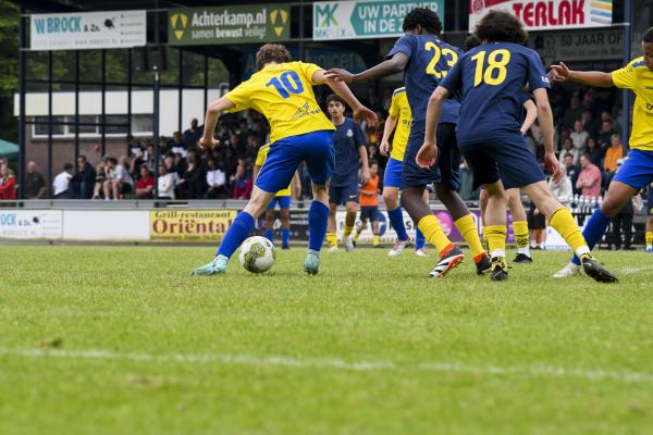
[[[37,14],[30,22],[32,50],[130,48],[147,42],[145,11]]]

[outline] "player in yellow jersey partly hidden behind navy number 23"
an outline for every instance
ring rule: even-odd
[[[387,217],[392,223],[392,227],[395,233],[397,233],[397,239],[390,252],[387,252],[389,257],[401,256],[402,252],[404,252],[404,248],[408,247],[411,243],[410,237],[408,237],[408,234],[406,233],[404,212],[399,206],[402,166],[404,163],[406,145],[408,144],[408,137],[410,136],[411,125],[412,113],[410,112],[410,105],[408,104],[406,87],[402,86],[392,92],[392,102],[390,104],[387,119],[385,120],[385,126],[383,127],[381,146],[379,147],[379,152],[381,152],[382,156],[387,156],[390,152],[390,159],[387,160],[385,173],[383,174],[383,201],[385,202],[385,210],[387,210]],[[390,135],[392,135],[393,130],[394,138],[391,146]],[[426,203],[429,203],[429,191],[426,189],[423,199]],[[416,233],[415,252],[419,257],[426,257],[424,236],[419,228],[416,229]]]

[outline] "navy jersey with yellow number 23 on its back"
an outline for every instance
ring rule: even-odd
[[[440,40],[433,35],[404,35],[387,53],[392,58],[396,53],[408,57],[408,64],[404,71],[404,84],[408,104],[412,112],[414,129],[419,129],[427,117],[427,107],[433,90],[448,71],[458,61],[463,51],[454,46]],[[445,101],[440,122],[456,123],[460,102],[456,98]],[[417,125],[416,125],[417,124]]]

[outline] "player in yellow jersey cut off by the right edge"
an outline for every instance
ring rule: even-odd
[[[574,82],[605,88],[616,86],[630,89],[636,95],[630,152],[609,184],[603,203],[594,210],[582,232],[590,249],[601,240],[611,219],[633,195],[653,182],[653,27],[642,37],[642,52],[643,57],[612,73],[571,71],[562,62],[551,66],[554,83]],[[563,278],[579,274],[580,262],[574,257],[554,276]]]

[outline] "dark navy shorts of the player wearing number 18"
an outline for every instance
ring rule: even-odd
[[[473,173],[473,188],[500,179],[505,189],[543,182],[544,173],[523,136],[488,138],[460,144]]]

